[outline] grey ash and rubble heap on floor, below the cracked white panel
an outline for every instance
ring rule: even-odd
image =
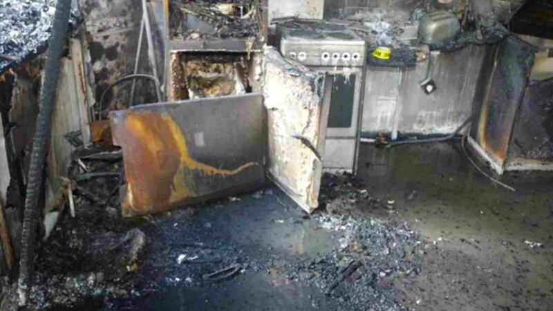
[[[392,282],[420,272],[424,243],[409,228],[379,220],[317,216],[322,227],[343,236],[336,249],[291,264],[290,279],[315,285],[339,299],[339,310],[405,310]]]

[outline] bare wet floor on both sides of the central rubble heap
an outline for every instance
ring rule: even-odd
[[[512,192],[480,175],[458,144],[365,145],[360,159],[358,176],[383,204],[348,213],[405,224],[428,243],[420,274],[391,278],[389,299],[412,310],[553,310],[553,174],[509,173],[503,182]],[[187,213],[174,211],[144,229],[152,246],[142,264],[168,258],[162,273],[172,285],[118,310],[344,310],[343,300],[291,279],[287,266],[330,252],[343,233],[306,217],[277,188]],[[202,238],[229,247],[243,271],[206,284],[200,270],[174,263],[187,252],[182,242]],[[384,310],[355,310],[371,309]]]

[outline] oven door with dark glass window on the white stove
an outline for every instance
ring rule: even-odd
[[[357,167],[359,117],[363,86],[363,68],[322,68],[332,79],[330,112],[324,169],[355,172]]]

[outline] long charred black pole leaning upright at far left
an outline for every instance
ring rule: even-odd
[[[57,0],[52,36],[46,51],[46,67],[42,79],[40,95],[40,111],[37,116],[35,137],[30,156],[27,196],[21,232],[21,260],[19,262],[19,280],[17,293],[19,305],[26,305],[27,288],[32,275],[35,259],[35,238],[37,234],[38,205],[41,195],[41,185],[44,173],[44,160],[48,150],[48,139],[52,124],[52,113],[55,106],[57,79],[61,63],[64,43],[66,41],[71,0]]]

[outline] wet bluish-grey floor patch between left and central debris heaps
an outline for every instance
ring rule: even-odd
[[[162,261],[156,258],[160,253],[169,257],[169,265],[176,269],[165,267],[162,273],[165,279],[173,280],[172,284],[156,288],[153,294],[122,301],[109,310],[335,310],[335,301],[319,288],[290,281],[283,267],[329,252],[339,236],[307,218],[276,187],[232,201],[194,207],[193,216],[182,217],[182,211],[175,211],[156,223],[154,227],[169,233],[153,238],[165,245],[151,247],[144,265]],[[178,227],[185,229],[181,232]],[[149,234],[148,229],[144,231]],[[171,236],[182,239],[175,241]],[[202,281],[198,270],[175,263],[179,254],[187,253],[187,247],[178,246],[182,245],[179,240],[229,247],[238,255],[225,256],[235,257],[231,260],[241,262],[243,270],[225,281]],[[216,267],[204,269],[207,272]]]

